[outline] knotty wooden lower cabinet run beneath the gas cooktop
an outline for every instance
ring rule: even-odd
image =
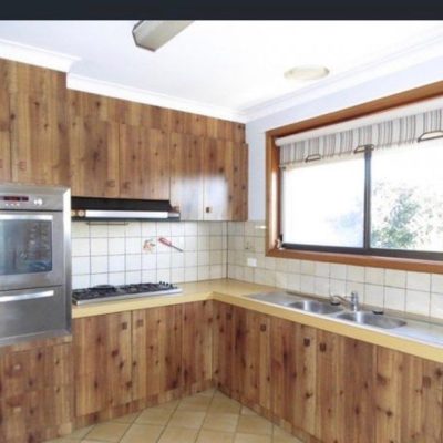
[[[213,301],[73,321],[78,426],[213,383]]]

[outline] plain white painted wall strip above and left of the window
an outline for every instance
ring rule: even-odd
[[[265,219],[265,132],[443,80],[443,58],[379,78],[246,124],[249,144],[249,219]]]

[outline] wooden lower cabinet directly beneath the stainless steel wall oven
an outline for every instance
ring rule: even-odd
[[[70,343],[0,357],[0,442],[52,440],[73,429]]]

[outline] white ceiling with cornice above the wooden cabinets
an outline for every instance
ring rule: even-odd
[[[73,89],[243,121],[343,79],[443,55],[442,21],[196,21],[155,53],[135,47],[134,23],[0,21],[0,43],[68,56]],[[10,47],[0,56],[14,53]],[[302,64],[331,74],[310,83],[284,79]]]

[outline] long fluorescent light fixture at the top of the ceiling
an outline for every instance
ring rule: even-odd
[[[142,20],[132,30],[135,44],[156,51],[187,28],[192,20]]]

